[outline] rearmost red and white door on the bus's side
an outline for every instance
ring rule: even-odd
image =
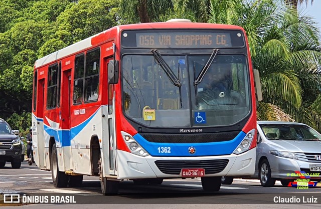
[[[40,168],[46,168],[45,167],[45,138],[44,138],[44,99],[45,99],[45,79],[38,80],[38,87],[39,91],[37,92],[37,124],[36,125],[36,132],[33,130],[33,152],[34,152],[34,158],[35,162],[37,162],[37,165]],[[34,140],[34,138],[37,138],[37,140]],[[34,151],[35,150],[35,151]]]

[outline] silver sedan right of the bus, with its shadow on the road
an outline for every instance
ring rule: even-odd
[[[321,134],[311,127],[294,122],[258,121],[254,176],[262,186],[273,186],[275,180],[287,185],[300,178],[297,173],[309,173],[312,180],[321,181]],[[224,176],[230,184],[236,176]]]

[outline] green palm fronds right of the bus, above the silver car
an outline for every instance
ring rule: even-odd
[[[309,124],[321,130],[321,47],[308,17],[271,1],[248,1],[237,10],[248,35],[254,68],[260,71],[263,102],[258,117]]]

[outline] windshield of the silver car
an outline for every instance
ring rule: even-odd
[[[320,141],[321,135],[305,125],[261,124],[266,138],[272,140],[312,140]]]

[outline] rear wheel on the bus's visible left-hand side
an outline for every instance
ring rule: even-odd
[[[69,177],[65,172],[59,171],[58,168],[58,156],[56,144],[52,146],[51,150],[51,176],[55,187],[66,187]]]

